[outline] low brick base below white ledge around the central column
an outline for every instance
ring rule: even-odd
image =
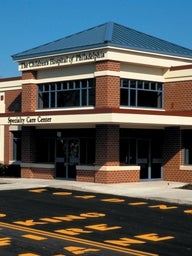
[[[139,182],[140,171],[83,171],[77,170],[77,181],[95,183],[126,183]]]

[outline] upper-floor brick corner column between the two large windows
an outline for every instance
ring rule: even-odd
[[[108,74],[107,74],[108,71]],[[119,108],[120,63],[101,61],[96,64],[96,108]]]

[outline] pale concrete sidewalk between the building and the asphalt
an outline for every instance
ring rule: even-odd
[[[57,179],[0,178],[0,190],[54,187],[192,205],[192,190],[181,189],[185,184],[167,181],[99,184]]]

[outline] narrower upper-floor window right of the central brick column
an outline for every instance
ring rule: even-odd
[[[163,107],[163,83],[121,79],[120,105],[128,107]]]

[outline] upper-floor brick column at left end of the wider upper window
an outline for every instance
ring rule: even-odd
[[[25,71],[22,74],[22,112],[34,112],[37,103],[37,85],[25,80],[36,79],[36,71]]]

